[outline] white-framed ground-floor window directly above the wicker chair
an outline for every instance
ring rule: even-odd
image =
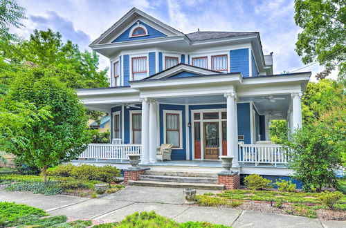
[[[182,147],[182,123],[180,111],[164,111],[165,143],[173,144],[173,148]]]

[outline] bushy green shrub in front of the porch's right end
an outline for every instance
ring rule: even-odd
[[[296,130],[291,140],[283,143],[290,156],[288,167],[306,189],[320,192],[323,187],[337,186],[334,171],[340,169],[342,159],[338,144],[331,143],[333,140],[334,134],[326,133],[323,126],[316,124]]]

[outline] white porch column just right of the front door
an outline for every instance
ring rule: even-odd
[[[234,157],[233,164],[237,164],[237,95],[231,92],[225,93],[224,96],[227,98],[227,155]]]

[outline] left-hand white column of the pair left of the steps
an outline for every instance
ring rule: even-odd
[[[142,161],[149,162],[149,102],[142,99]]]

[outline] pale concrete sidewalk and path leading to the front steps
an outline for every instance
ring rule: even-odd
[[[197,190],[197,193],[210,191]],[[212,191],[211,191],[212,192]],[[346,227],[346,222],[320,221],[257,211],[183,205],[183,190],[129,186],[100,199],[43,196],[28,192],[0,191],[0,201],[18,202],[69,218],[120,221],[136,211],[156,211],[177,222],[208,221],[232,227]]]

